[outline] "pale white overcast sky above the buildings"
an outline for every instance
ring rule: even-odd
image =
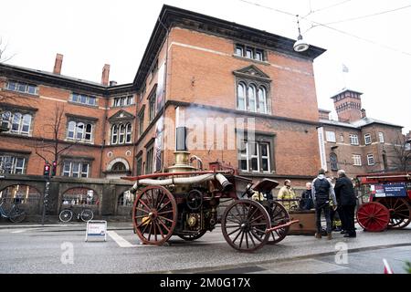
[[[330,97],[346,87],[364,93],[368,117],[411,130],[411,7],[402,8],[409,0],[2,0],[8,64],[52,71],[60,53],[64,75],[100,82],[107,63],[111,80],[132,82],[163,4],[294,39],[297,18],[286,13],[306,16],[304,39],[327,49],[314,60],[319,107],[333,110]],[[342,21],[359,16],[368,17]]]

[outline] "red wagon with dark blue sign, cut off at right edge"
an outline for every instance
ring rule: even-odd
[[[411,173],[391,172],[357,175],[370,195],[357,210],[357,222],[366,231],[400,229],[411,222]]]

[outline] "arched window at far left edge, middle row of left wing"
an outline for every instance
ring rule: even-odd
[[[8,129],[5,132],[18,135],[28,135],[30,133],[32,120],[32,115],[28,113],[3,111],[0,115],[0,124]]]

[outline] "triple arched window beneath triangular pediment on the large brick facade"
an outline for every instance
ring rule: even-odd
[[[240,81],[237,84],[237,110],[269,113],[267,88],[254,83]]]

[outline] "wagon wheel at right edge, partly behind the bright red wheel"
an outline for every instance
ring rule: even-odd
[[[404,198],[375,198],[374,202],[382,203],[390,213],[388,228],[401,229],[411,221],[411,206]]]

